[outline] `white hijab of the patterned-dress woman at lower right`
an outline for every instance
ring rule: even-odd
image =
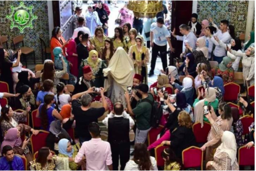
[[[236,154],[237,154],[237,143],[235,139],[235,135],[230,131],[224,131],[222,137],[221,137],[221,144],[217,148],[216,153],[214,156],[226,152],[228,156],[231,159],[230,166],[232,166],[236,160]]]

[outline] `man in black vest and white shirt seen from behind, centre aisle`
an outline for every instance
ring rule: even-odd
[[[108,142],[110,143],[113,170],[118,170],[120,156],[120,170],[124,170],[130,158],[129,131],[134,126],[132,117],[124,111],[122,103],[114,104],[112,111],[103,121],[108,128]]]

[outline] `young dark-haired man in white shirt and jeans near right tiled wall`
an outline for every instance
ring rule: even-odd
[[[215,36],[219,38],[223,43],[228,44],[230,42],[231,36],[227,31],[228,26],[227,20],[220,21],[220,29],[217,31]],[[223,57],[226,56],[226,50],[215,40],[214,36],[210,35],[212,43],[215,44],[215,49],[213,51],[213,60],[217,61],[219,64],[222,61]]]

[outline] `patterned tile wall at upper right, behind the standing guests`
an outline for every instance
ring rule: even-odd
[[[219,25],[221,20],[227,19],[239,36],[245,33],[247,7],[248,1],[197,1],[198,20],[213,18],[214,23]]]

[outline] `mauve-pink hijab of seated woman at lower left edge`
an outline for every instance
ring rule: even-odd
[[[20,137],[17,137],[18,134],[18,129],[17,128],[10,128],[5,136],[4,136],[4,141],[1,145],[1,153],[3,150],[3,147],[5,145],[10,145],[12,148],[13,147],[18,147],[21,145],[22,141]]]

